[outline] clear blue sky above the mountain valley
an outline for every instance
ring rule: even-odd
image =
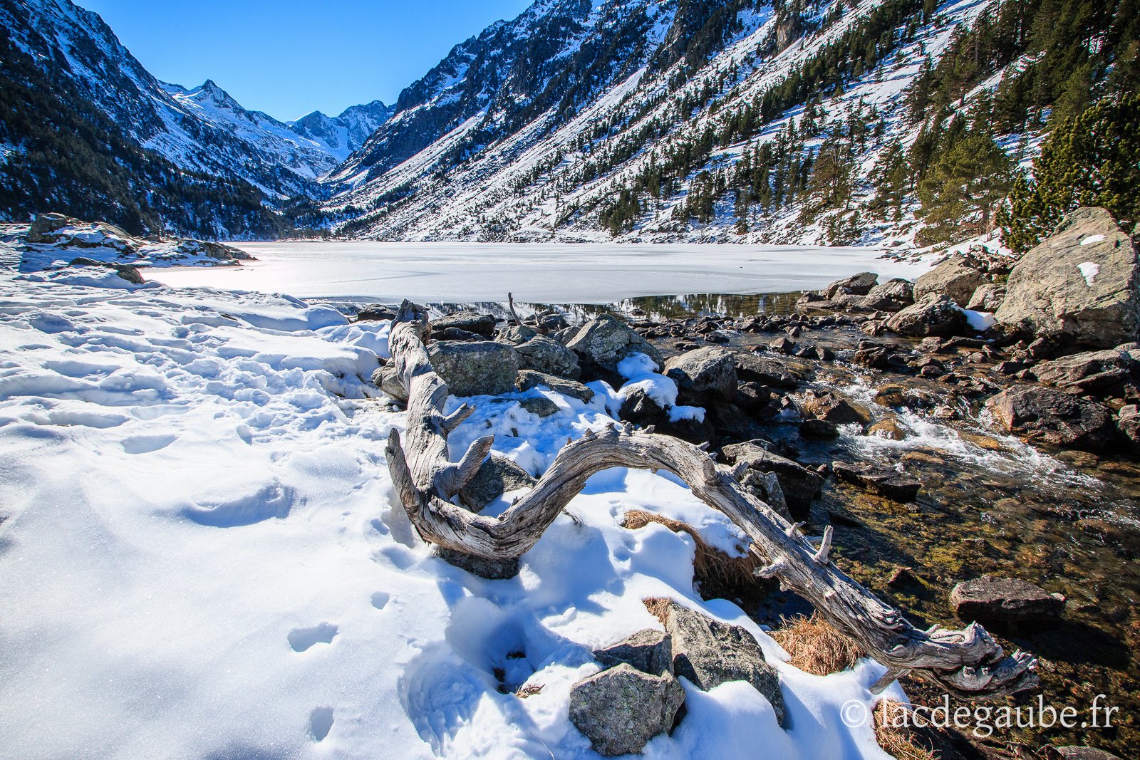
[[[532,0],[76,0],[147,70],[283,121],[380,98]]]

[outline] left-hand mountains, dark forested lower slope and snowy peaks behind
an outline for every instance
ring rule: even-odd
[[[282,234],[291,223],[276,212],[291,198],[320,197],[316,180],[386,116],[377,101],[327,125],[315,123],[326,119],[320,114],[286,124],[242,107],[212,81],[194,89],[161,82],[97,14],[68,0],[0,0],[0,31],[9,107],[0,171],[24,188],[6,188],[10,199],[0,211],[14,218],[98,212],[132,232],[172,226],[209,237]],[[90,171],[108,163],[108,153],[132,165],[129,175],[121,166]],[[107,171],[109,178],[98,177]],[[187,181],[194,187],[182,187]],[[234,205],[261,219],[246,226],[226,207]]]

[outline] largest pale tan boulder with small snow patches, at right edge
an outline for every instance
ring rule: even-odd
[[[1137,340],[1140,267],[1104,209],[1077,209],[1013,267],[994,317],[1008,332],[1094,349]]]

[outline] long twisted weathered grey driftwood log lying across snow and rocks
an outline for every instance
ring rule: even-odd
[[[449,392],[432,369],[423,340],[426,314],[405,302],[393,321],[389,346],[408,391],[407,433],[392,430],[388,466],[400,501],[420,536],[445,556],[518,561],[530,549],[594,473],[611,467],[671,472],[693,495],[719,509],[751,539],[751,551],[779,579],[808,602],[864,652],[887,667],[874,690],[914,671],[964,698],[996,697],[1036,685],[1034,657],[1007,656],[990,634],[970,623],[962,630],[934,626],[920,630],[903,614],[848,578],[829,558],[832,529],[811,542],[738,481],[741,472],[717,465],[701,448],[668,435],[612,425],[568,441],[535,487],[497,517],[451,502],[488,456],[494,436],[474,441],[459,461],[449,461],[447,436],[474,411],[466,404],[445,415]]]

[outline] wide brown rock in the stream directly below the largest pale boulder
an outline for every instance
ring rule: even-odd
[[[1017,385],[986,408],[1004,432],[1052,446],[1101,451],[1116,438],[1108,407],[1049,387]]]

